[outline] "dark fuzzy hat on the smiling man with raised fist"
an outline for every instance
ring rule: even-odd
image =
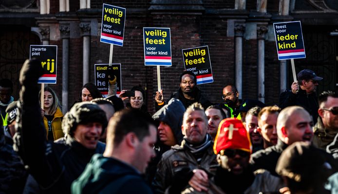
[[[92,122],[102,124],[103,134],[108,124],[106,113],[95,103],[78,102],[63,117],[62,130],[64,134],[74,136],[77,125]]]

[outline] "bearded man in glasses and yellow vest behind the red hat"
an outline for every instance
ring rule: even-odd
[[[240,94],[234,85],[226,85],[223,88],[222,98],[225,100],[223,105],[226,107],[226,109],[230,110],[231,118],[238,118],[241,120],[242,117],[240,114],[240,107],[243,100],[239,99],[239,96]]]

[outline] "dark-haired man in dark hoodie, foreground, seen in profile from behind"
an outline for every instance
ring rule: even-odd
[[[124,109],[112,117],[107,130],[104,154],[93,156],[73,182],[72,193],[151,194],[141,176],[155,156],[156,127],[151,117],[137,109]]]

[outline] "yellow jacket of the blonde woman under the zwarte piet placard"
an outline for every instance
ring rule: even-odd
[[[52,130],[53,130],[54,140],[59,139],[64,136],[63,131],[62,131],[62,117],[63,117],[63,114],[61,110],[57,108],[54,114],[53,121],[52,121]],[[45,125],[46,132],[47,132],[47,138],[48,138],[48,120],[45,116],[43,117],[43,124]]]

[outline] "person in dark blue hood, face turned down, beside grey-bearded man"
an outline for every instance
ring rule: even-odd
[[[155,176],[157,164],[161,160],[163,153],[170,150],[171,146],[180,145],[183,140],[181,126],[185,111],[186,108],[180,100],[171,98],[168,104],[152,116],[158,122],[158,138],[154,145],[156,156],[151,159],[146,172],[146,180],[150,184]]]

